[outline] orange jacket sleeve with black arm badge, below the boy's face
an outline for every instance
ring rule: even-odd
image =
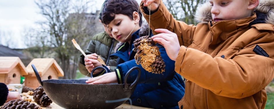
[[[212,57],[196,49],[181,47],[175,71],[220,96],[236,99],[252,96],[273,79],[274,34],[256,29],[251,31],[247,31],[247,37],[255,35],[256,39],[251,39],[253,42],[246,47],[236,49],[228,58]],[[269,57],[256,54],[253,51],[256,46],[264,49]]]

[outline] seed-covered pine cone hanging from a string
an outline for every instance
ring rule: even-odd
[[[136,51],[134,58],[138,65],[141,64],[146,71],[155,74],[161,74],[165,71],[165,62],[160,55],[159,48],[151,37],[143,36],[136,39],[133,43],[133,51]]]

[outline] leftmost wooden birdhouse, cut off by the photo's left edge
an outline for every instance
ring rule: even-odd
[[[0,57],[0,83],[20,84],[20,76],[28,75],[19,57]]]

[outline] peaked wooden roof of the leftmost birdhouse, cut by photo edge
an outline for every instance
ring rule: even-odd
[[[28,71],[19,57],[0,57],[0,74],[7,74],[15,67],[19,67],[22,76],[28,75]]]

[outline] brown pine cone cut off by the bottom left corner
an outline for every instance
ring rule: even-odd
[[[16,99],[11,100],[8,103],[5,103],[0,109],[41,109],[39,106],[36,106],[34,103],[29,103],[25,100]]]

